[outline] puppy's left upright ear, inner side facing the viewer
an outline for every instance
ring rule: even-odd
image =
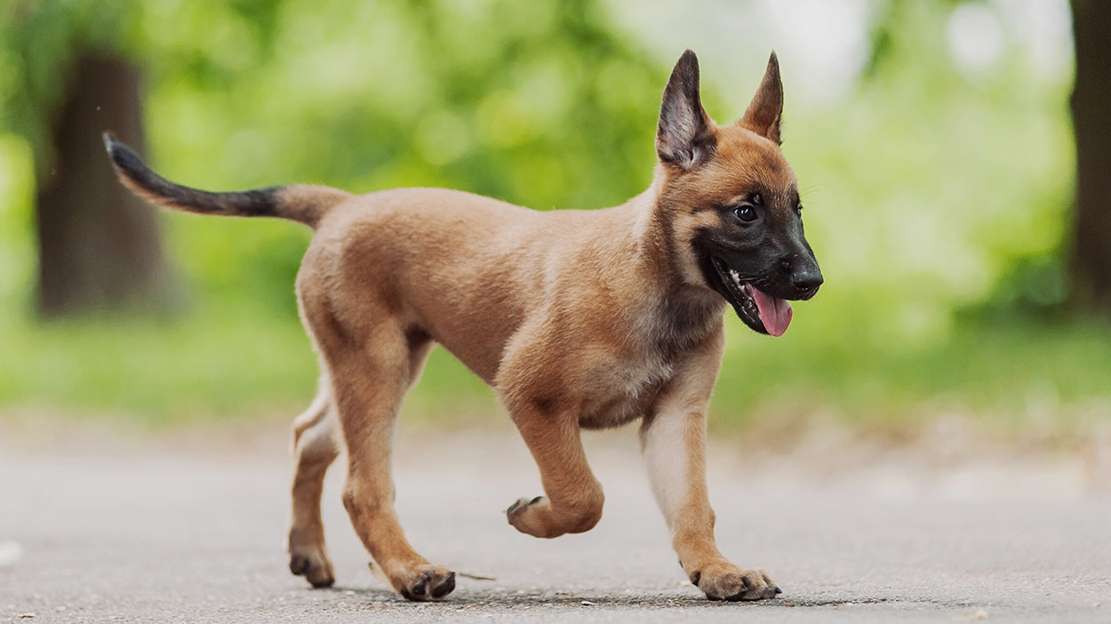
[[[655,153],[660,161],[684,170],[705,162],[714,145],[713,121],[702,109],[698,87],[698,57],[687,50],[663,90],[655,131]]]

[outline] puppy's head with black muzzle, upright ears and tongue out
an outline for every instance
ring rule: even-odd
[[[655,151],[657,215],[684,281],[717,291],[754,331],[781,335],[787,300],[822,284],[802,233],[798,180],[780,151],[783,84],[774,52],[744,115],[718,127],[699,98],[688,50],[663,91]]]

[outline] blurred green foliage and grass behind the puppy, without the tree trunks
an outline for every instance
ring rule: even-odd
[[[1033,76],[1010,54],[969,82],[944,50],[951,4],[893,12],[885,32],[898,37],[847,98],[792,99],[784,66],[784,151],[827,284],[781,340],[729,321],[714,403],[725,421],[769,405],[898,416],[939,396],[1022,413],[1031,392],[1069,404],[1111,394],[1111,330],[1044,314],[1068,288],[1069,77]],[[597,208],[647,187],[670,69],[615,20],[585,0],[0,8],[0,404],[289,415],[313,389],[292,295],[309,234],[284,222],[164,215],[193,301],[184,318],[27,318],[34,177],[49,170],[44,137],[79,51],[144,68],[150,160],[187,184],[437,185]],[[752,89],[762,61],[737,62]],[[723,101],[717,69],[703,68],[703,99],[725,121],[747,101]],[[438,352],[410,406],[471,404],[489,410],[489,391]]]

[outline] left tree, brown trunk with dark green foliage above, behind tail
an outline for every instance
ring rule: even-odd
[[[142,143],[141,72],[110,43],[120,7],[17,1],[0,13],[0,52],[22,79],[2,121],[37,157],[40,315],[164,308],[174,289],[157,217],[114,182],[99,141],[112,128]]]

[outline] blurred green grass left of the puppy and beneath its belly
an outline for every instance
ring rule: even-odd
[[[120,416],[158,424],[292,416],[317,385],[296,318],[242,308],[143,318],[0,323],[0,410]],[[452,358],[430,359],[411,411],[489,411],[492,393]]]

